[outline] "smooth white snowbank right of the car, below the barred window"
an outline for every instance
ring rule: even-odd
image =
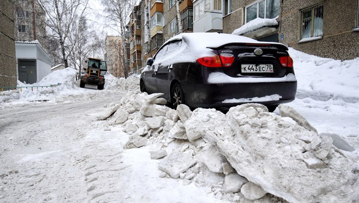
[[[297,98],[359,102],[359,57],[334,60],[309,55],[289,48],[298,79]]]

